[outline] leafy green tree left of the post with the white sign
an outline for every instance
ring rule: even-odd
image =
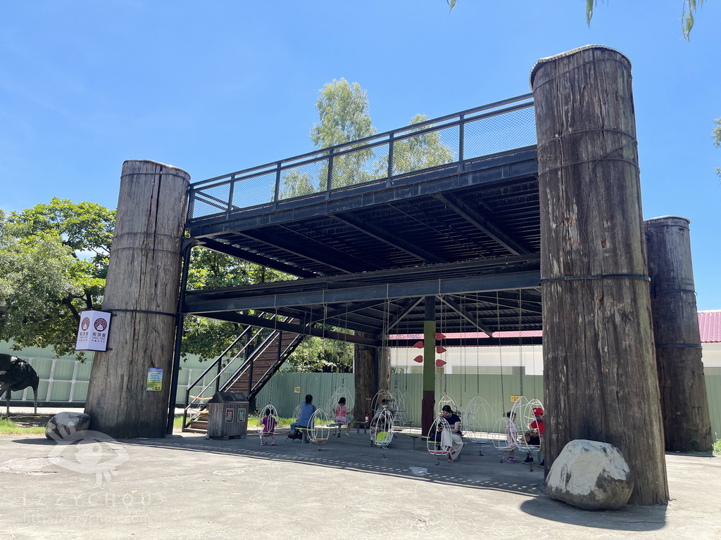
[[[80,312],[102,305],[115,212],[53,198],[0,220],[0,340],[84,359]]]

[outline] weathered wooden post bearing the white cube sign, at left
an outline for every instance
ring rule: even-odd
[[[180,168],[123,163],[103,300],[108,350],[95,354],[85,404],[91,428],[114,438],[165,433],[189,182]],[[149,368],[163,370],[162,390],[146,390]]]

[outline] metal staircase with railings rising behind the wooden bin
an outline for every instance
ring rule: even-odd
[[[291,318],[283,323],[297,323]],[[182,431],[208,431],[207,402],[216,392],[242,392],[252,400],[278,372],[304,336],[248,326],[233,343],[187,387]],[[209,374],[213,374],[210,381]]]

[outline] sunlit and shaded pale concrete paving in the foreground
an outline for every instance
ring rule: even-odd
[[[717,457],[667,456],[668,507],[593,513],[548,498],[540,469],[492,449],[438,464],[408,436],[384,451],[351,433],[321,451],[284,436],[0,436],[0,540],[721,537]]]

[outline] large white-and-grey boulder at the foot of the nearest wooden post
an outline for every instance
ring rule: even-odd
[[[583,439],[564,446],[546,477],[552,498],[585,510],[622,508],[633,487],[633,473],[616,446]]]

